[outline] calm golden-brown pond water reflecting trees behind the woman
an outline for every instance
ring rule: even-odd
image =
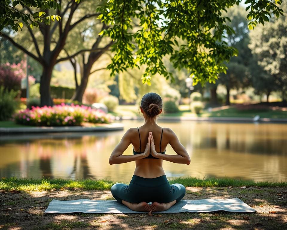
[[[106,178],[129,182],[135,162],[110,165],[124,132],[143,124],[123,121],[124,131],[0,136],[0,177]],[[171,128],[191,164],[164,161],[168,178],[231,177],[287,181],[287,125],[253,123],[158,122]],[[130,145],[125,155],[132,154]],[[175,154],[167,146],[166,154]]]

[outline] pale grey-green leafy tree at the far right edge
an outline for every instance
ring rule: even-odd
[[[287,10],[287,3],[282,4],[282,9]],[[250,33],[249,48],[255,55],[258,65],[263,67],[265,75],[261,76],[260,84],[255,84],[255,89],[269,96],[271,91],[281,91],[282,100],[286,101],[287,92],[287,17],[271,19],[271,22],[258,26]],[[264,86],[262,86],[264,84]]]

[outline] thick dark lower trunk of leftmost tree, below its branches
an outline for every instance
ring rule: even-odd
[[[53,106],[53,100],[51,99],[51,91],[50,91],[50,82],[53,68],[54,65],[48,65],[43,67],[43,72],[40,80],[41,107],[44,105]]]

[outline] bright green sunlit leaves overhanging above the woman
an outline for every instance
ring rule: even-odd
[[[236,49],[221,41],[225,33],[234,33],[222,15],[228,7],[245,2],[248,5],[251,29],[264,24],[271,14],[279,17],[281,0],[187,0],[143,1],[109,0],[100,7],[100,18],[110,27],[101,34],[115,41],[115,56],[108,66],[111,75],[127,68],[146,64],[142,82],[150,84],[152,75],[159,73],[167,79],[172,73],[165,68],[162,58],[170,55],[175,68],[186,68],[194,74],[194,84],[215,82],[225,72],[224,61],[236,55]],[[137,19],[140,29],[132,32],[131,22]],[[179,46],[178,38],[185,41]],[[135,44],[134,44],[135,43]]]

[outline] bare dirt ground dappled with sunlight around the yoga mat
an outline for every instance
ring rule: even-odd
[[[183,199],[238,197],[256,213],[44,214],[52,199],[113,199],[110,190],[0,191],[0,229],[287,229],[287,187],[187,187]]]

